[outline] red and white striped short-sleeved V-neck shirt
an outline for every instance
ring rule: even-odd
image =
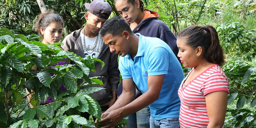
[[[189,74],[193,70],[194,68]],[[180,127],[207,127],[209,117],[206,110],[205,95],[216,91],[229,93],[228,79],[220,66],[216,64],[203,71],[185,87],[182,87],[187,77],[181,82],[178,90],[181,102],[179,112]]]

